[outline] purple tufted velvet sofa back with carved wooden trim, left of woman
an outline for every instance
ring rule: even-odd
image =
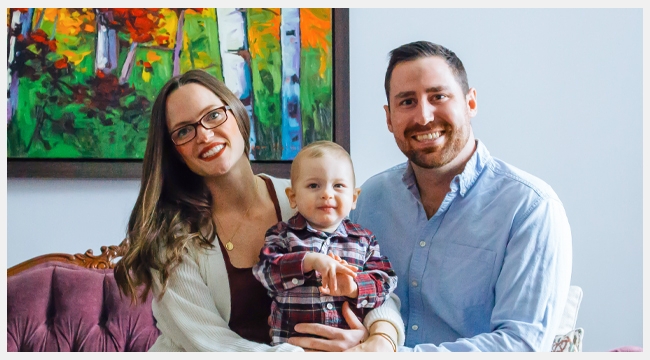
[[[146,303],[121,296],[113,260],[102,254],[48,254],[7,270],[7,351],[147,351],[158,338]]]

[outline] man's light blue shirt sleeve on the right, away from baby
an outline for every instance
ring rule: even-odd
[[[571,259],[564,208],[557,199],[541,199],[513,223],[490,332],[400,351],[550,351],[569,292]]]

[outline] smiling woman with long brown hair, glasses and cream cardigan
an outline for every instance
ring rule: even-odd
[[[348,311],[350,330],[299,324],[297,331],[326,339],[266,344],[271,300],[251,268],[266,230],[293,211],[284,192],[289,180],[253,174],[249,133],[243,104],[204,71],[172,78],[156,98],[128,224],[131,245],[115,269],[133,301],[153,292],[162,334],[151,351],[392,351],[385,336],[373,336],[399,333],[403,343],[392,299],[366,317],[370,336]]]

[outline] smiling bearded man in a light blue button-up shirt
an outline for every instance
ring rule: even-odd
[[[562,203],[474,138],[476,90],[452,51],[400,46],[384,85],[408,161],[366,181],[351,219],[397,272],[400,350],[550,351],[571,279]]]

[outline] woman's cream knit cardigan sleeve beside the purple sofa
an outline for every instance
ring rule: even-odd
[[[161,299],[158,274],[154,271],[153,275],[153,315],[161,336],[175,347],[191,352],[302,351],[288,343],[271,347],[248,341],[230,330],[201,276],[198,262],[189,253],[172,270]]]

